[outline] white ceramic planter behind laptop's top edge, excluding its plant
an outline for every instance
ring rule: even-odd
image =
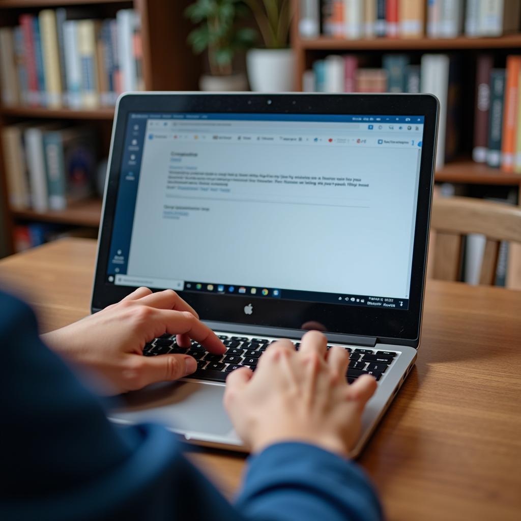
[[[295,56],[292,49],[251,49],[246,54],[246,66],[252,91],[295,90]]]

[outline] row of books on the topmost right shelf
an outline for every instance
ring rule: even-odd
[[[333,38],[454,38],[518,31],[519,0],[300,0],[299,32]]]

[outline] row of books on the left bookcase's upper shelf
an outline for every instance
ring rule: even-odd
[[[105,20],[85,15],[44,9],[0,29],[5,106],[96,108],[114,105],[121,92],[144,90],[137,12],[122,9]]]

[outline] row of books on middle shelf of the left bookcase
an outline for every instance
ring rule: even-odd
[[[96,151],[92,131],[59,123],[18,123],[2,129],[9,205],[62,210],[92,195]]]

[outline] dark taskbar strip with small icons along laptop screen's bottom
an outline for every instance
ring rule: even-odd
[[[184,291],[194,293],[217,293],[222,295],[252,296],[271,299],[300,300],[305,302],[324,302],[348,306],[382,307],[389,309],[408,309],[409,300],[396,297],[373,295],[353,295],[323,293],[320,291],[284,290],[234,284],[214,284],[212,282],[184,282]]]

